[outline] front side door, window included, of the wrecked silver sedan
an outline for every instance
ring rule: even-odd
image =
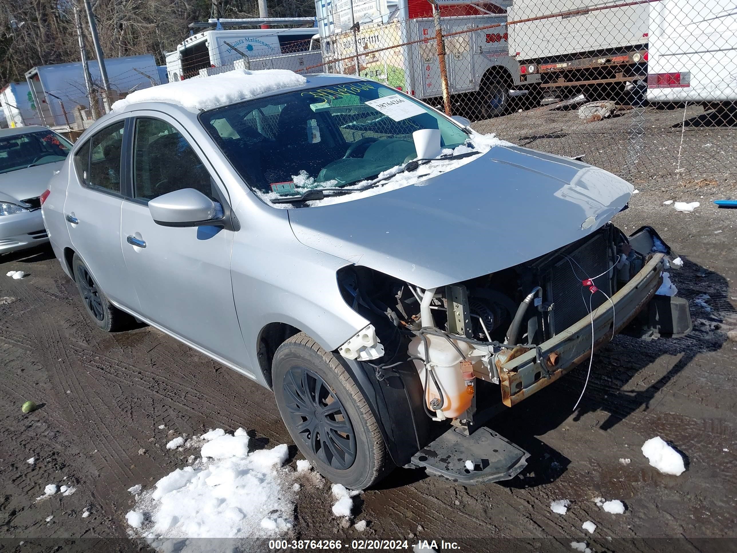
[[[131,122],[132,194],[122,206],[122,249],[144,318],[237,366],[247,364],[230,275],[233,231],[154,223],[148,201],[195,188],[213,201],[227,189],[175,119]]]

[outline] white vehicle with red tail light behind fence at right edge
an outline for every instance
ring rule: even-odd
[[[650,7],[649,102],[737,102],[737,4],[663,0]]]

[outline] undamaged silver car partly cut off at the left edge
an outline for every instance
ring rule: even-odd
[[[0,129],[0,254],[49,241],[41,194],[69,150],[71,142],[46,127]]]

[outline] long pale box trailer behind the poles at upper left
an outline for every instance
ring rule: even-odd
[[[97,60],[88,62],[92,86],[102,97],[102,85]],[[108,82],[114,91],[127,94],[139,88],[161,84],[153,55],[105,59]],[[26,72],[32,100],[46,127],[69,126],[74,121],[77,105],[89,106],[82,62],[36,66]]]

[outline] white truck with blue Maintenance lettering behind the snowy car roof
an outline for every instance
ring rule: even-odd
[[[176,52],[167,54],[167,74],[170,80],[184,80],[198,76],[200,69],[228,66],[243,55],[259,59],[309,52],[314,35],[314,27],[209,29],[185,38]]]

